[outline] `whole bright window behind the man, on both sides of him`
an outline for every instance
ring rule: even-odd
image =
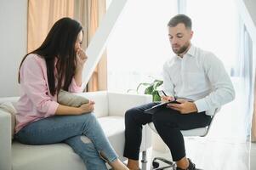
[[[152,82],[152,77],[162,78],[162,64],[173,56],[167,24],[178,13],[191,16],[191,42],[223,61],[236,88],[236,100],[222,107],[225,114],[219,113],[212,136],[246,139],[251,113],[241,103],[249,103],[248,94],[252,93],[247,86],[252,82],[252,65],[247,64],[253,46],[246,46],[251,42],[233,0],[128,0],[107,44],[108,90],[127,92],[140,82]],[[229,126],[226,120],[230,120]]]

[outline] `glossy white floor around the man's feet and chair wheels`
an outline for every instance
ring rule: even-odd
[[[187,156],[204,170],[256,170],[256,144],[196,138],[185,139],[185,145]],[[148,161],[156,156],[172,159],[169,152],[148,151]],[[151,169],[151,162],[147,164]]]

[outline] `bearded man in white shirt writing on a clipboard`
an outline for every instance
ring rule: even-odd
[[[176,54],[163,65],[163,90],[180,104],[148,114],[150,103],[132,108],[125,115],[125,149],[128,167],[139,169],[139,146],[142,125],[153,122],[157,132],[171,151],[177,170],[196,169],[185,156],[185,143],[180,130],[206,127],[215,110],[235,98],[230,77],[222,62],[212,53],[191,44],[191,19],[178,14],[168,22],[168,37]]]

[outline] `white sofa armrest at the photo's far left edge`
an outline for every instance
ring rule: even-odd
[[[0,110],[0,169],[11,169],[11,116]]]

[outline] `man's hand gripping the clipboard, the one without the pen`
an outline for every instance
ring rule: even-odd
[[[193,102],[187,101],[185,99],[177,99],[177,101],[181,104],[168,104],[167,107],[179,111],[181,114],[197,112],[196,105]]]

